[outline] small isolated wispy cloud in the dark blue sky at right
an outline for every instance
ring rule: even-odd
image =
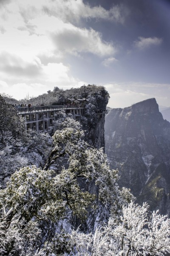
[[[135,41],[135,47],[137,47],[138,49],[145,49],[145,48],[149,48],[152,45],[160,45],[162,43],[162,38],[157,38],[157,37],[153,37],[153,38],[143,38],[143,37],[139,37],[138,41]]]

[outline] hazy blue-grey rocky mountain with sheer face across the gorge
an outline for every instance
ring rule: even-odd
[[[170,215],[170,122],[156,99],[112,109],[105,118],[105,152],[120,186],[137,201]]]

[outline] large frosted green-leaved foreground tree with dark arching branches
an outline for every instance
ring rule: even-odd
[[[6,189],[1,189],[2,255],[69,255],[74,250],[72,215],[83,221],[88,207],[98,211],[95,205],[99,202],[120,218],[122,206],[132,195],[117,186],[117,172],[109,169],[102,149],[88,145],[83,136],[84,132],[76,128],[57,130],[54,149],[44,169],[21,168],[11,176]],[[56,174],[49,169],[55,160],[66,155],[68,165],[61,172]],[[99,198],[81,189],[80,177],[94,180]]]

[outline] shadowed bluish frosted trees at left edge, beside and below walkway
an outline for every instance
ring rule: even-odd
[[[43,166],[51,148],[49,134],[26,131],[15,108],[0,95],[0,186],[21,167]]]

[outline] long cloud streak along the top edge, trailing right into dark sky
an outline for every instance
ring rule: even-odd
[[[102,6],[91,7],[82,0],[54,0],[53,5],[45,4],[43,11],[48,16],[59,17],[65,22],[79,21],[80,19],[104,19],[114,20],[122,23],[126,16],[126,10],[122,5],[113,6],[110,10],[104,9]]]

